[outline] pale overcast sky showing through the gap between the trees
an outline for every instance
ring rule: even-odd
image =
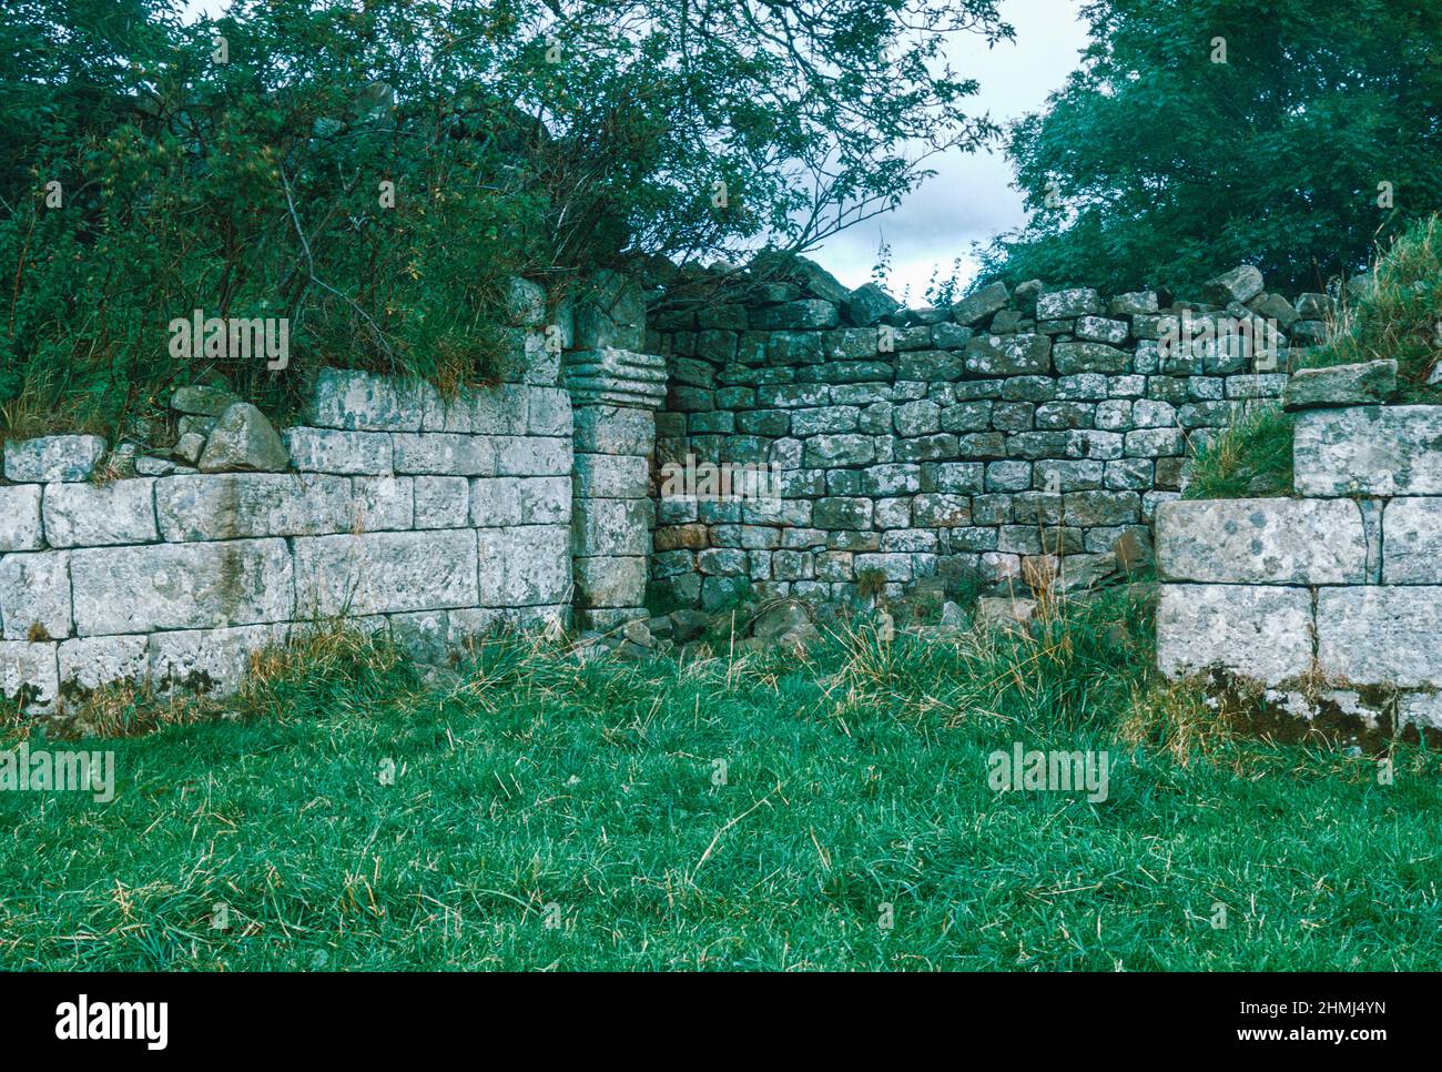
[[[187,0],[187,16],[221,14],[225,0]],[[1086,46],[1080,0],[1001,0],[1002,17],[1017,29],[1015,42],[994,49],[973,35],[957,35],[950,46],[952,68],[981,84],[963,102],[969,114],[989,114],[998,124],[1035,111],[1079,65]],[[936,177],[901,205],[825,242],[813,257],[849,287],[871,278],[881,241],[891,244],[891,290],[910,287],[910,303],[921,304],[934,270],[943,278],[960,257],[960,280],[976,265],[972,242],[986,242],[1025,219],[1021,195],[1011,189],[1012,173],[999,150],[955,150],[930,162]]]

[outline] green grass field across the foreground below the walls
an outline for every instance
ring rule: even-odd
[[[1144,594],[808,662],[496,642],[448,685],[330,636],[225,720],[111,697],[196,720],[107,742],[108,805],[0,794],[0,968],[1433,968],[1436,756],[1227,733]],[[1017,740],[1107,749],[1110,795],[992,792]]]

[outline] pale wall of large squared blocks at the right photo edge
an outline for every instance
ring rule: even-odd
[[[1442,407],[1345,401],[1296,414],[1298,498],[1158,509],[1158,664],[1309,719],[1442,729]]]

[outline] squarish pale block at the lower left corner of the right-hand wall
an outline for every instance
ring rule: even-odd
[[[1164,584],[1156,665],[1174,678],[1214,667],[1269,685],[1301,677],[1312,665],[1312,596],[1260,584]]]

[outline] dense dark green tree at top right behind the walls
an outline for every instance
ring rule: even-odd
[[[1442,203],[1442,7],[1094,0],[1011,128],[1031,218],[983,278],[1185,289],[1239,263],[1318,289]]]

